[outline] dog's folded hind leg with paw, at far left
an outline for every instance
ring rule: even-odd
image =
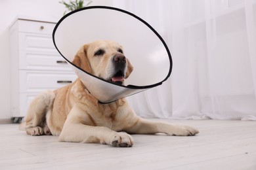
[[[55,94],[50,90],[39,94],[33,99],[25,118],[25,129],[29,135],[49,135],[49,131],[45,130],[45,128],[49,129],[45,122],[45,116],[47,111],[52,109],[54,99]]]

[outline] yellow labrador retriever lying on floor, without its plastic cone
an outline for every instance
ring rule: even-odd
[[[112,41],[85,44],[72,62],[95,76],[117,84],[123,84],[133,71],[123,48]],[[144,120],[135,114],[126,99],[101,104],[79,79],[35,97],[24,124],[29,135],[58,135],[58,141],[120,147],[133,145],[133,137],[128,133],[179,136],[199,133],[189,126]]]

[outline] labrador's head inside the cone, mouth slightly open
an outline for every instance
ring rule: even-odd
[[[123,54],[123,47],[113,41],[95,41],[82,46],[74,60],[77,67],[104,80],[123,84],[133,66]]]

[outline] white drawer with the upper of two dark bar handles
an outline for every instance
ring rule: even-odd
[[[45,71],[72,71],[72,68],[59,54],[20,52],[20,69]]]

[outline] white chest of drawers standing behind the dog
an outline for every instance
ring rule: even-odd
[[[33,97],[54,90],[77,76],[58,54],[52,39],[56,23],[16,19],[10,28],[11,116],[26,116]]]

